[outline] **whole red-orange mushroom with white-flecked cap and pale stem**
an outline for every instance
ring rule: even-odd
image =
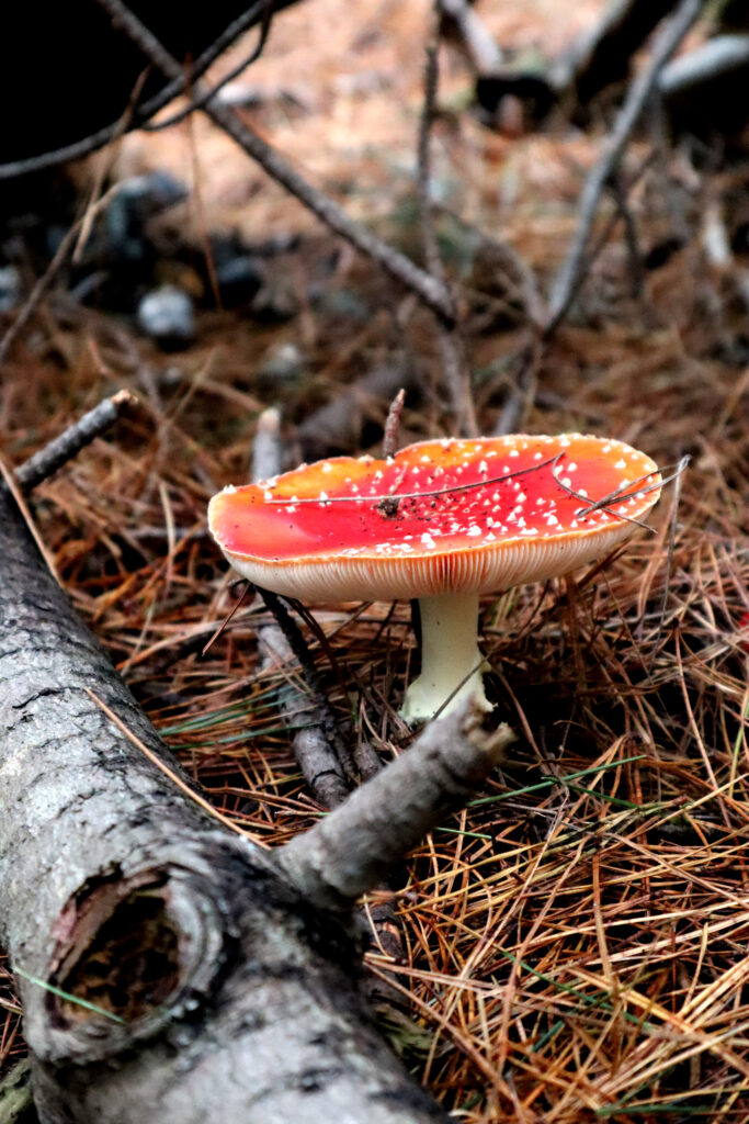
[[[473,695],[491,709],[478,597],[566,573],[625,538],[660,493],[656,464],[581,434],[427,441],[228,487],[211,532],[249,581],[301,600],[419,598],[421,674],[401,714]]]

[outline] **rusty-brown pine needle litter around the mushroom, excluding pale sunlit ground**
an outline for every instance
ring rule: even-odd
[[[365,123],[389,97],[367,92]],[[274,112],[261,123],[277,124]],[[310,110],[305,145],[323,135],[323,116]],[[450,190],[463,182],[456,209],[486,214],[497,162],[528,173],[506,234],[548,281],[573,221],[579,137],[528,138],[511,152],[462,119],[441,142]],[[384,174],[374,151],[368,183]],[[588,151],[579,163],[590,165]],[[331,182],[336,171],[323,169]],[[633,200],[648,245],[663,236],[663,192],[676,198],[679,175],[658,169]],[[705,176],[695,191],[722,185]],[[403,184],[380,187],[395,216]],[[271,198],[276,221],[293,228],[296,205],[284,211]],[[395,871],[403,963],[368,954],[410,1006],[411,1018],[385,1018],[385,1032],[467,1124],[749,1120],[749,354],[746,311],[706,269],[700,200],[691,207],[689,237],[639,300],[627,294],[614,232],[547,348],[527,422],[530,432],[612,434],[663,464],[691,454],[668,586],[672,491],[650,520],[657,534],[636,532],[605,565],[484,599],[490,689],[520,742]],[[290,253],[289,272],[310,275],[336,251],[316,232]],[[248,477],[271,393],[261,366],[275,346],[305,352],[303,381],[285,391],[290,424],[374,363],[402,357],[404,339],[426,384],[439,371],[428,318],[398,321],[387,282],[341,262],[329,291],[342,285],[382,310],[357,332],[332,301],[282,325],[205,312],[200,342],[175,364],[126,324],[51,299],[0,382],[0,447],[13,464],[104,393],[122,387],[144,401],[37,490],[36,523],[76,608],[185,770],[221,816],[270,846],[320,815],[278,706],[289,685],[304,685],[295,665],[258,673],[267,614],[252,598],[201,658],[241,592],[208,535],[207,500]],[[522,345],[522,329],[502,325],[467,328],[484,432]],[[439,401],[404,410],[403,443],[450,432]],[[365,436],[358,451],[377,446]],[[314,615],[335,667],[303,627],[348,744],[366,740],[385,762],[407,752],[391,704],[417,659],[408,606]],[[0,1070],[21,1053],[0,964]]]

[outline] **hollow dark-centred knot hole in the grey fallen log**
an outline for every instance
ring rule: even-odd
[[[94,1041],[104,1055],[199,1005],[227,952],[202,881],[172,867],[117,871],[68,899],[53,931],[47,979],[56,991],[44,992],[53,1055],[63,1041],[70,1051],[71,1039],[89,1058]]]

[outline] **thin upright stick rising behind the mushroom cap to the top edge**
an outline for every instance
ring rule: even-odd
[[[419,211],[421,220],[421,242],[424,261],[429,274],[445,289],[450,301],[451,318],[445,323],[444,317],[437,317],[437,336],[442,363],[442,378],[453,400],[455,422],[463,437],[473,437],[478,433],[476,411],[471,393],[471,374],[466,363],[463,343],[457,327],[457,301],[447,283],[445,266],[439,254],[435,215],[431,203],[431,129],[435,121],[435,103],[439,83],[439,28],[441,9],[439,0],[431,8],[429,31],[424,58],[424,96],[419,120],[419,137],[417,145],[419,191]]]

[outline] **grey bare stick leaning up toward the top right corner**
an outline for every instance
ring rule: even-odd
[[[579,198],[577,227],[551,287],[549,311],[544,335],[550,335],[564,318],[586,269],[585,250],[601,200],[601,194],[619,166],[630,136],[656,90],[664,66],[674,54],[703,8],[703,0],[682,0],[660,29],[654,43],[648,65],[631,83],[624,103],[614,121],[611,136],[591,170]]]

